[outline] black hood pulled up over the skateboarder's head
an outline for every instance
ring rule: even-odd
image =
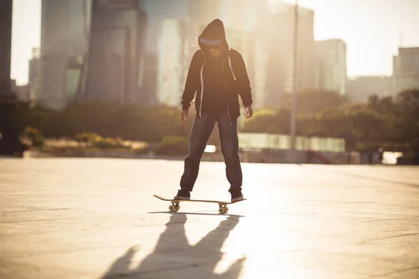
[[[200,49],[207,54],[207,48],[205,47],[205,43],[207,44],[218,44],[221,43],[223,45],[224,50],[228,50],[228,43],[226,40],[226,30],[224,29],[224,24],[218,18],[210,22],[210,24],[205,27],[203,33],[200,34],[198,37],[198,45]]]

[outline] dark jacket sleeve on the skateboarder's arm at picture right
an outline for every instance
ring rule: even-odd
[[[247,75],[246,65],[244,64],[243,56],[240,52],[235,52],[235,77],[239,89],[240,97],[244,107],[250,107],[253,103],[251,98],[251,86],[249,76]]]

